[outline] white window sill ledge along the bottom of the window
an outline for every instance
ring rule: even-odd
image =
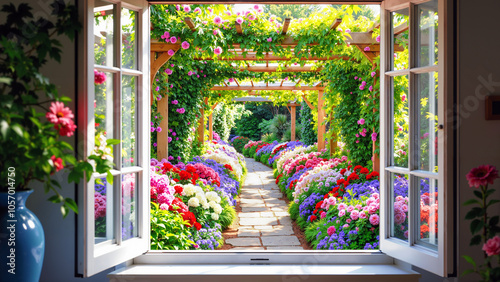
[[[231,265],[231,264],[135,264],[108,274],[111,282],[119,281],[366,281],[417,282],[420,274],[393,264],[360,265]]]

